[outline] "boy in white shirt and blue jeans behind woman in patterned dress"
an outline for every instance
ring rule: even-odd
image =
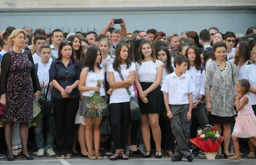
[[[36,44],[35,44],[36,45]],[[40,47],[38,54],[41,57],[41,61],[35,64],[35,70],[37,71],[38,80],[41,87],[41,93],[47,92],[47,87],[49,83],[49,69],[52,61],[51,59],[51,48],[49,45],[44,44]],[[51,99],[51,90],[52,84],[49,85],[49,91],[47,99]],[[38,100],[37,100],[38,101]],[[43,126],[44,122],[47,122],[47,136],[46,136],[46,145],[44,146],[44,136],[43,136]],[[33,154],[37,156],[44,156],[44,151],[46,150],[47,156],[56,156],[56,153],[53,151],[54,138],[55,135],[52,131],[53,115],[52,116],[43,116],[37,126],[35,126],[35,142],[37,145],[37,150]]]

